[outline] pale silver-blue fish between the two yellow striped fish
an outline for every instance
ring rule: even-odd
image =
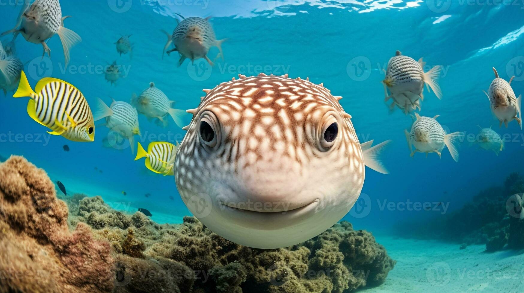
[[[140,136],[138,125],[138,112],[126,102],[116,102],[112,98],[111,106],[107,107],[102,99],[98,99],[95,112],[95,121],[105,118],[105,126],[120,136],[129,140],[131,151],[135,153],[134,136]]]

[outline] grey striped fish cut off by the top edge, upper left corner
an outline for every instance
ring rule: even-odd
[[[58,34],[62,42],[65,63],[69,63],[69,50],[82,41],[77,33],[64,27],[63,20],[71,16],[62,17],[62,8],[58,0],[36,0],[30,6],[29,2],[24,1],[15,28],[2,33],[2,36],[13,32],[14,41],[21,33],[26,41],[41,44],[43,54],[47,53],[51,56],[51,49],[47,47],[46,41]]]

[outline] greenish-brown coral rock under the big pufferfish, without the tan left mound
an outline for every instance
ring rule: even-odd
[[[113,219],[117,213],[98,197],[84,198],[81,202],[79,214],[82,215]],[[301,244],[262,250],[228,241],[194,217],[186,216],[182,224],[176,225],[159,225],[141,212],[123,217],[131,222],[126,229],[106,225],[94,231],[97,239],[105,239],[113,246],[114,258],[117,263],[123,263],[119,269],[123,266],[126,272],[136,276],[151,270],[162,272],[158,260],[183,266],[195,275],[177,283],[181,292],[342,293],[382,284],[395,265],[372,234],[353,230],[348,222],[335,224]],[[90,225],[101,227],[97,222],[90,222]],[[125,279],[118,276],[117,272],[117,279]],[[147,285],[155,282],[155,278],[149,278],[148,274],[138,280],[132,277],[129,285],[118,287],[117,291],[158,288]],[[133,282],[140,284],[131,285]],[[162,283],[166,286],[165,291],[176,288],[167,282]],[[181,284],[189,286],[188,289],[182,290]],[[173,292],[178,291],[173,289]]]

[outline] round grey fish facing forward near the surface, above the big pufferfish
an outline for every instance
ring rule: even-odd
[[[173,33],[169,34],[167,31],[162,30],[162,32],[167,35],[167,43],[162,51],[162,58],[163,53],[166,52],[171,43],[173,43],[174,49],[166,53],[169,55],[169,53],[173,51],[178,51],[180,54],[178,66],[182,65],[186,58],[189,58],[191,62],[199,58],[204,58],[210,65],[213,65],[213,62],[208,58],[209,49],[213,46],[219,48],[219,55],[224,59],[222,43],[226,39],[216,40],[215,31],[208,21],[210,17],[184,18],[179,14],[177,15],[182,18],[182,21],[178,22],[177,19],[178,25],[174,28]]]

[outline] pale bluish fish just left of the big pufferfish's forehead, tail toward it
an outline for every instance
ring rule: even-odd
[[[169,115],[178,127],[182,128],[184,126],[182,117],[185,111],[171,108],[173,104],[174,101],[169,100],[153,82],[149,83],[149,87],[144,89],[138,97],[136,94],[131,97],[131,105],[148,119],[157,118],[166,127],[168,123],[166,116]]]

